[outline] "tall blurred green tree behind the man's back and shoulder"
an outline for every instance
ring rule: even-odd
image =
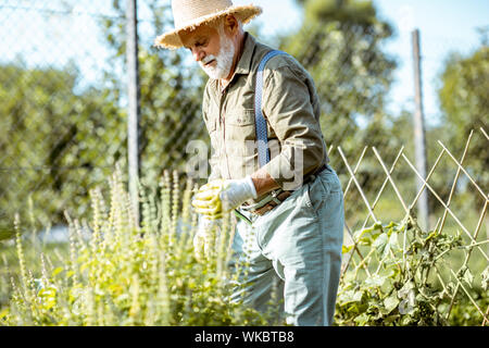
[[[396,63],[381,51],[392,28],[377,17],[372,1],[302,0],[300,30],[281,39],[313,76],[322,101],[322,126],[329,144],[358,151],[359,121],[385,114],[385,97]],[[363,147],[363,144],[360,146]]]

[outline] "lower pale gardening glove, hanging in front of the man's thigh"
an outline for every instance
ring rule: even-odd
[[[212,220],[205,215],[199,216],[199,224],[193,236],[193,252],[199,262],[212,254],[220,224],[221,220]]]

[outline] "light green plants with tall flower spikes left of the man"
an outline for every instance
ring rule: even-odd
[[[165,173],[158,195],[140,189],[141,224],[120,173],[110,182],[110,204],[100,189],[91,195],[92,219],[66,213],[70,256],[60,266],[46,262],[29,271],[15,223],[20,279],[12,281],[3,325],[263,325],[266,315],[227,300],[235,276],[226,268],[230,217],[224,219],[215,252],[197,262],[190,211],[192,183],[180,188]],[[154,192],[153,192],[154,194]],[[156,199],[159,200],[156,202]],[[89,232],[89,237],[86,233]]]

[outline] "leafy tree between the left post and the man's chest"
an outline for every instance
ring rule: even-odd
[[[148,32],[140,35],[140,151],[141,179],[155,183],[164,170],[185,172],[185,165],[192,153],[186,152],[190,140],[209,142],[209,136],[201,115],[201,101],[205,76],[195,64],[188,64],[183,50],[156,49],[154,38],[172,25],[170,3],[147,1],[151,23]],[[125,17],[124,1],[113,1],[118,13],[102,21],[105,38],[113,51],[113,61],[125,64]],[[124,96],[124,78],[116,73],[109,74],[114,80],[113,94]]]

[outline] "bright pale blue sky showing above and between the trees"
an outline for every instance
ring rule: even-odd
[[[145,0],[140,1],[145,10]],[[46,13],[39,10],[49,9],[53,3],[61,3],[61,10],[65,7],[72,15],[54,11],[48,12],[46,18]],[[83,62],[84,78],[97,80],[100,67],[111,62],[97,32],[99,25],[90,13],[108,13],[110,3],[109,0],[0,0],[0,61],[22,55],[34,65],[64,65],[76,58]],[[301,25],[302,9],[294,0],[234,0],[234,3],[263,8],[255,22],[261,25],[265,40]],[[374,0],[374,4],[381,18],[396,29],[396,36],[385,46],[386,53],[398,61],[396,80],[387,96],[389,111],[397,114],[402,109],[414,110],[411,33],[418,28],[425,117],[428,125],[436,124],[440,115],[438,76],[443,63],[451,51],[468,54],[477,49],[480,39],[476,28],[489,26],[489,0]],[[148,23],[142,22],[140,28],[145,25]]]

